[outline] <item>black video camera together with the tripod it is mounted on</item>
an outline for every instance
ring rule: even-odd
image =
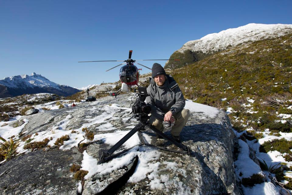
[[[106,161],[109,161],[109,160],[115,158],[116,156],[122,155],[123,153],[129,151],[130,149],[132,149],[136,146],[140,147],[142,145],[145,145],[148,147],[153,147],[153,148],[160,149],[160,150],[171,151],[171,152],[176,152],[176,153],[187,154],[187,155],[193,156],[193,152],[187,146],[185,146],[181,143],[178,143],[172,137],[169,137],[166,134],[162,133],[155,126],[151,125],[148,122],[148,119],[150,118],[148,116],[148,114],[151,112],[151,107],[146,105],[146,103],[144,101],[145,101],[146,97],[149,95],[147,94],[146,87],[138,87],[138,91],[139,91],[139,93],[136,94],[136,96],[137,96],[136,102],[134,102],[134,104],[132,104],[132,112],[134,113],[134,117],[137,119],[137,121],[140,121],[140,122],[132,130],[130,130],[130,132],[127,133],[127,135],[125,135],[115,145],[113,145],[113,147],[111,147],[108,151],[103,152],[103,154],[99,160],[99,163],[104,163]],[[155,133],[157,133],[158,135],[163,137],[165,140],[168,140],[172,144],[174,144],[177,147],[179,147],[180,149],[182,149],[182,151],[172,150],[172,149],[169,149],[167,147],[155,146],[152,144],[145,143],[144,138],[141,134],[141,131],[145,130],[145,126],[147,126],[149,129],[151,129],[152,131],[154,131]],[[138,132],[138,137],[140,139],[141,144],[138,144],[136,146],[125,149],[119,153],[113,154],[123,143],[125,143],[136,132]]]

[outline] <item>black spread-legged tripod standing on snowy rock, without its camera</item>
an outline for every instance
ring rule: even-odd
[[[187,146],[185,146],[185,145],[183,145],[181,143],[178,143],[172,137],[169,137],[169,136],[165,135],[160,130],[155,128],[155,126],[151,125],[148,122],[149,116],[147,114],[139,113],[139,114],[135,115],[135,118],[137,118],[137,120],[139,120],[140,122],[132,130],[130,130],[130,132],[127,133],[127,135],[125,135],[122,139],[120,139],[113,147],[111,147],[108,151],[103,152],[103,154],[102,154],[102,156],[101,156],[101,158],[99,160],[99,164],[100,163],[104,163],[106,161],[109,161],[112,158],[114,158],[116,156],[119,156],[119,155],[125,153],[126,151],[129,151],[130,149],[132,149],[133,147],[128,148],[128,149],[126,149],[124,151],[121,151],[121,152],[119,152],[117,154],[113,154],[123,143],[125,143],[136,132],[138,132],[139,139],[141,141],[141,144],[138,144],[136,146],[140,147],[142,145],[145,145],[145,146],[153,147],[153,148],[160,149],[160,150],[171,151],[171,152],[176,152],[176,153],[187,154],[187,155],[193,156],[192,151]],[[143,139],[143,136],[141,134],[141,131],[145,130],[145,126],[147,126],[149,129],[151,129],[152,131],[154,131],[155,133],[157,133],[158,135],[163,137],[165,140],[170,141],[172,144],[176,145],[177,147],[179,147],[183,151],[172,150],[172,149],[168,149],[166,147],[155,146],[155,145],[152,145],[152,144],[146,144],[144,139]],[[136,147],[136,146],[134,146],[134,147]]]

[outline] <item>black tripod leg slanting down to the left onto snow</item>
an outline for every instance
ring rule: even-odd
[[[103,163],[107,161],[107,159],[112,155],[123,143],[125,143],[130,137],[132,137],[137,131],[144,127],[143,123],[137,124],[132,130],[130,130],[127,135],[125,135],[122,139],[120,139],[113,147],[111,147],[108,151],[103,152],[99,163]]]

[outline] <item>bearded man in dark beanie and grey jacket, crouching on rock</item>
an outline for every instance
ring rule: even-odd
[[[147,93],[150,96],[146,98],[146,104],[151,107],[149,123],[160,131],[164,129],[163,121],[174,123],[171,129],[172,138],[181,142],[179,134],[189,119],[189,110],[183,109],[186,101],[178,84],[158,63],[152,66],[152,78]],[[158,134],[156,136],[161,138]]]

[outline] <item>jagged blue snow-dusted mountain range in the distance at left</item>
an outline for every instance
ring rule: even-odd
[[[80,90],[59,85],[40,74],[18,75],[5,77],[0,80],[0,98],[14,97],[22,94],[51,93],[60,96],[69,96]]]

